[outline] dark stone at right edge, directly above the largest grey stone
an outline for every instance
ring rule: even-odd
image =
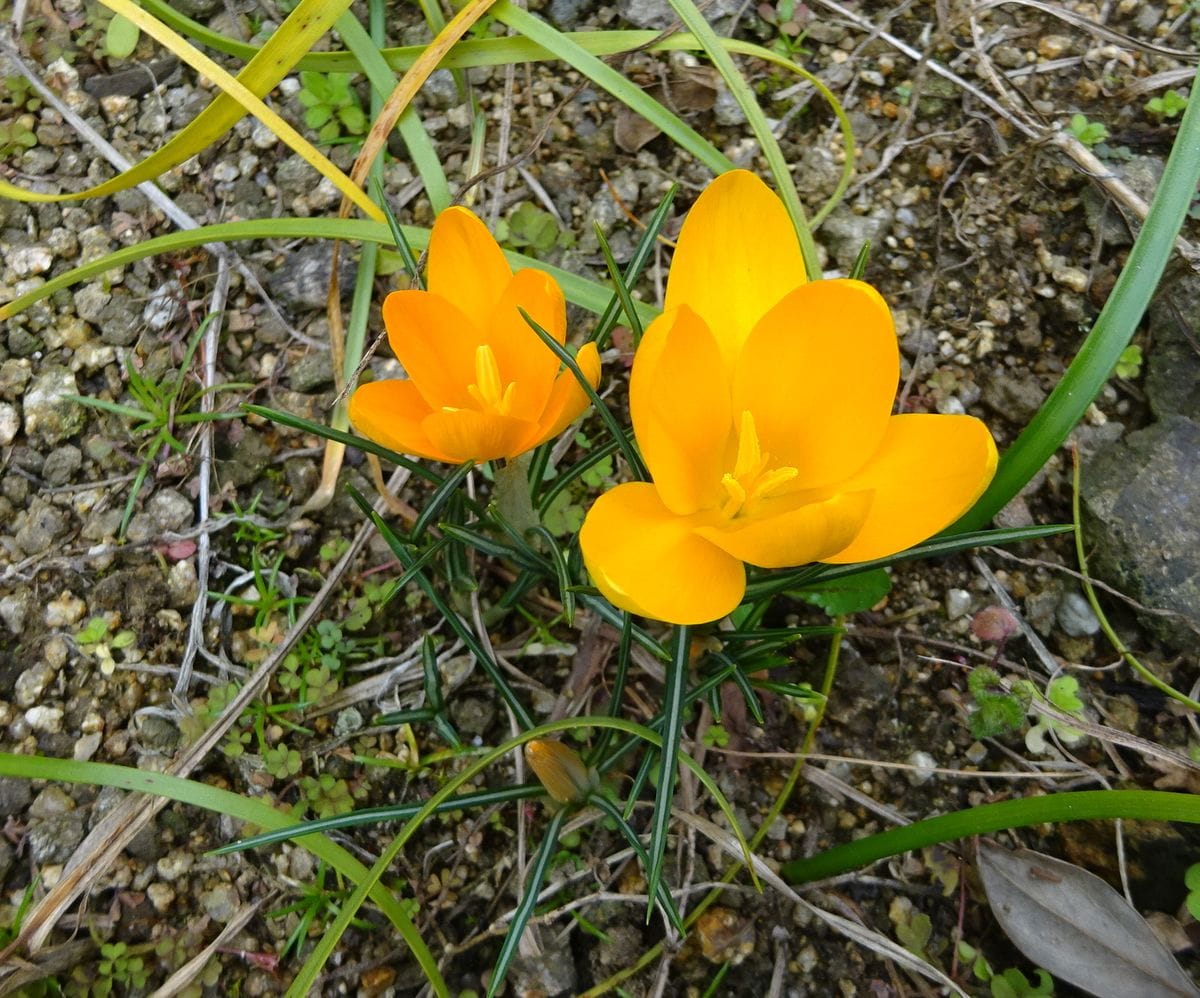
[[[1153,345],[1146,360],[1146,396],[1159,419],[1171,414],[1200,420],[1200,356],[1195,321],[1200,277],[1188,275],[1164,287],[1150,306]]]

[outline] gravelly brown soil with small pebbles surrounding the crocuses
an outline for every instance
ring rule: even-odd
[[[246,12],[209,0],[176,6],[239,36],[252,19],[270,17],[258,6]],[[661,2],[529,6],[570,30],[670,23]],[[797,5],[794,23],[803,34],[794,36],[782,19],[787,6],[716,0],[708,14],[722,31],[794,53],[850,113],[859,144],[857,175],[817,234],[822,264],[845,272],[871,240],[866,276],[892,303],[901,336],[901,404],[980,415],[1003,450],[1070,361],[1128,254],[1138,199],[1153,192],[1177,122],[1177,113],[1147,110],[1146,103],[1187,88],[1183,73],[1195,61],[1200,13],[1175,1],[1067,0],[978,5],[970,19],[966,2],[866,0],[841,7],[812,0]],[[13,12],[4,10],[7,22]],[[24,68],[134,161],[212,96],[206,83],[145,40],[130,59],[106,56],[107,14],[96,5],[47,0],[24,16],[19,61],[0,48],[6,62],[0,175],[13,184],[80,190],[115,173],[107,154],[23,83]],[[1084,20],[1103,22],[1103,29]],[[415,7],[397,13],[392,32],[402,43],[427,37]],[[762,168],[740,112],[701,60],[638,53],[614,65],[673,101],[736,163]],[[782,71],[755,60],[742,67],[778,122],[815,210],[841,166],[832,116],[811,88]],[[469,76],[488,118],[487,162],[496,161],[502,125],[509,157],[532,148],[520,169],[485,184],[475,202],[475,210],[493,224],[503,221],[510,245],[526,252],[601,279],[592,221],[624,261],[637,240],[630,216],[647,217],[678,182],[666,227],[673,234],[709,179],[604,92],[577,91],[581,78],[560,66]],[[275,107],[302,127],[300,84],[287,84]],[[418,107],[451,182],[461,184],[472,113],[452,77],[434,74]],[[557,116],[535,144],[552,112]],[[1087,131],[1096,125],[1106,136]],[[335,145],[330,155],[344,168],[353,151]],[[384,186],[392,204],[403,222],[430,224],[403,148],[391,151],[397,155],[385,167]],[[162,200],[200,223],[328,216],[338,203],[328,182],[317,182],[299,157],[248,119],[160,178],[160,187],[166,199],[157,203],[140,190],[64,204],[0,200],[0,301],[175,230],[178,221]],[[1200,240],[1195,221],[1184,238]],[[163,399],[173,399],[178,411],[194,410],[208,378],[239,385],[216,395],[221,411],[250,401],[324,419],[335,396],[324,314],[328,244],[262,240],[234,250],[228,270],[203,250],[128,264],[54,294],[0,330],[0,632],[7,637],[0,642],[0,748],[155,770],[190,758],[193,778],[306,816],[419,800],[461,762],[446,757],[428,726],[418,726],[413,737],[368,722],[418,703],[422,635],[443,641],[449,713],[464,740],[493,745],[508,735],[509,719],[418,589],[384,601],[384,583],[396,572],[391,553],[372,531],[360,530],[361,515],[344,491],[322,509],[306,505],[320,479],[320,441],[251,416],[208,429],[181,426],[174,447],[155,438],[157,428],[72,401],[134,404],[142,379],[164,407]],[[667,260],[660,247],[641,288],[647,300],[661,294]],[[349,289],[353,253],[343,252],[342,265],[342,288]],[[1186,270],[1178,264],[1169,272],[1135,339],[1145,365],[1110,380],[1076,434],[1090,545],[1104,577],[1138,601],[1104,595],[1104,607],[1123,639],[1181,689],[1196,680],[1200,623],[1200,602],[1184,588],[1200,578],[1189,561],[1200,540],[1188,533],[1200,522],[1188,515],[1200,512],[1194,446],[1200,287]],[[391,277],[380,276],[377,300],[391,285]],[[226,302],[220,348],[212,355],[202,348],[181,378],[214,295]],[[582,313],[572,320],[580,331],[590,321]],[[606,371],[622,371],[628,361],[628,353],[614,348]],[[394,367],[383,356],[374,365],[380,372]],[[138,404],[146,405],[145,397]],[[602,428],[588,423],[583,433],[594,439]],[[572,446],[582,452],[582,444]],[[613,469],[611,476],[618,475]],[[1139,482],[1146,487],[1130,492]],[[340,485],[373,494],[359,452],[347,453]],[[401,498],[419,509],[427,492],[408,482]],[[581,500],[558,511],[564,530]],[[1069,518],[1070,461],[1063,451],[997,521]],[[1164,523],[1178,533],[1164,533]],[[1139,552],[1146,554],[1141,561]],[[1159,572],[1163,564],[1170,571]],[[1093,722],[1184,756],[1194,750],[1198,737],[1182,711],[1127,669],[1096,671],[1117,655],[1098,635],[1072,575],[1075,566],[1073,545],[1057,537],[989,549],[974,560],[898,569],[888,599],[852,620],[817,741],[823,754],[810,760],[810,775],[770,828],[764,859],[776,864],[881,830],[896,811],[908,817],[949,811],[1028,792],[1031,782],[1194,789],[1194,770],[1135,750],[1117,754],[1100,738],[1086,739],[1070,754],[1051,748],[1051,756],[1039,757],[1020,733],[982,741],[971,734],[967,665],[995,661],[1044,684],[1049,661],[1052,668],[1078,668],[1073,674]],[[481,581],[485,603],[502,582]],[[996,647],[978,637],[978,620],[1001,594],[1015,601],[1030,627]],[[205,748],[200,733],[233,699],[234,684],[270,659],[306,607],[313,625],[244,720]],[[492,631],[539,720],[557,709],[564,689],[584,698],[607,690],[605,668],[614,665],[613,635],[586,617],[569,629],[547,607],[546,600],[533,600],[527,613],[509,614]],[[817,623],[814,613],[781,603],[774,623]],[[824,654],[821,643],[798,645],[790,673],[818,684]],[[583,669],[586,681],[584,660],[602,667]],[[180,679],[181,663],[190,678]],[[318,705],[287,707],[302,695]],[[653,668],[635,663],[629,715],[642,720],[659,695]],[[784,702],[767,707],[760,726],[726,698],[720,737],[703,738],[713,723],[707,710],[689,732],[748,829],[780,792],[799,745],[803,719]],[[872,760],[889,768],[865,764]],[[1046,775],[1048,769],[1055,771]],[[998,776],[971,775],[979,772]],[[499,766],[487,784],[517,778]],[[696,787],[685,782],[682,793],[689,810],[714,818],[715,807]],[[0,778],[0,926],[18,921],[26,894],[36,902],[53,890],[89,831],[127,806],[116,790]],[[403,895],[416,900],[416,922],[456,993],[484,987],[503,932],[499,919],[515,904],[523,836],[536,838],[544,820],[540,806],[524,805],[520,813],[506,806],[433,819],[392,871]],[[341,841],[370,862],[394,828],[358,829]],[[296,949],[328,922],[346,885],[292,846],[209,854],[245,831],[228,816],[162,807],[124,849],[97,861],[86,896],[56,918],[37,956],[42,973],[72,994],[108,993],[106,984],[113,993],[150,993],[173,975],[186,990],[170,993],[282,993],[302,960]],[[1183,871],[1200,852],[1198,843],[1169,826],[1124,831],[1135,904],[1157,913],[1156,926],[1186,950],[1196,932],[1181,913]],[[1120,873],[1110,824],[1010,838],[1114,880]],[[634,966],[661,938],[658,924],[644,924],[640,904],[619,898],[644,889],[636,867],[612,859],[620,846],[595,825],[565,844],[569,855],[554,876],[566,896],[590,900],[581,901],[578,919],[540,921],[530,951],[511,973],[509,993],[583,993]],[[971,979],[953,954],[955,931],[997,968],[1030,968],[996,926],[967,873],[970,859],[968,849],[911,855],[806,897],[899,938],[947,972],[953,964],[956,980],[983,994],[986,985]],[[697,888],[719,879],[725,864],[706,838],[680,829],[670,876]],[[689,903],[698,896],[689,894]],[[922,944],[913,943],[913,926],[923,924],[918,916],[928,918]],[[744,884],[725,891],[692,936],[668,952],[668,960],[626,980],[624,993],[700,994],[725,963],[730,970],[716,993],[932,993],[809,909],[770,889],[756,896]],[[187,969],[202,954],[208,958]],[[10,961],[0,993],[20,986],[22,966]],[[386,922],[370,912],[344,937],[319,993],[416,994],[421,980]],[[29,994],[58,993],[26,987]]]

